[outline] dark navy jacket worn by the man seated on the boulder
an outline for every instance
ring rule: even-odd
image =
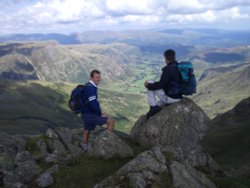
[[[165,94],[173,99],[181,99],[181,93],[171,94],[174,89],[172,82],[181,84],[181,75],[178,69],[177,61],[172,61],[162,69],[162,75],[159,82],[149,83],[149,90],[159,90],[163,89]]]

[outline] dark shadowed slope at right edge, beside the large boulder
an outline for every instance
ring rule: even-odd
[[[250,177],[250,97],[210,123],[203,145],[235,176]],[[247,170],[248,169],[248,170]]]

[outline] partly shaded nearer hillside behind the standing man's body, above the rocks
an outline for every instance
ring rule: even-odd
[[[75,84],[42,81],[0,80],[0,131],[39,133],[51,125],[82,127],[80,117],[72,114],[67,100]],[[117,129],[128,132],[136,118],[143,114],[145,98],[100,89],[103,111],[117,120]]]

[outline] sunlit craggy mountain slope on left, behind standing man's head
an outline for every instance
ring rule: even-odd
[[[92,69],[103,72],[104,82],[129,78],[126,44],[63,46],[56,42],[9,43],[0,45],[2,79],[86,82]],[[122,50],[125,50],[123,52]],[[130,50],[130,52],[135,51]],[[115,70],[115,71],[114,71]]]

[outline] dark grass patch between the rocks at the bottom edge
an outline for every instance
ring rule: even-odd
[[[83,155],[73,166],[61,166],[55,177],[52,188],[91,188],[98,182],[116,172],[126,164],[128,159],[95,159]]]

